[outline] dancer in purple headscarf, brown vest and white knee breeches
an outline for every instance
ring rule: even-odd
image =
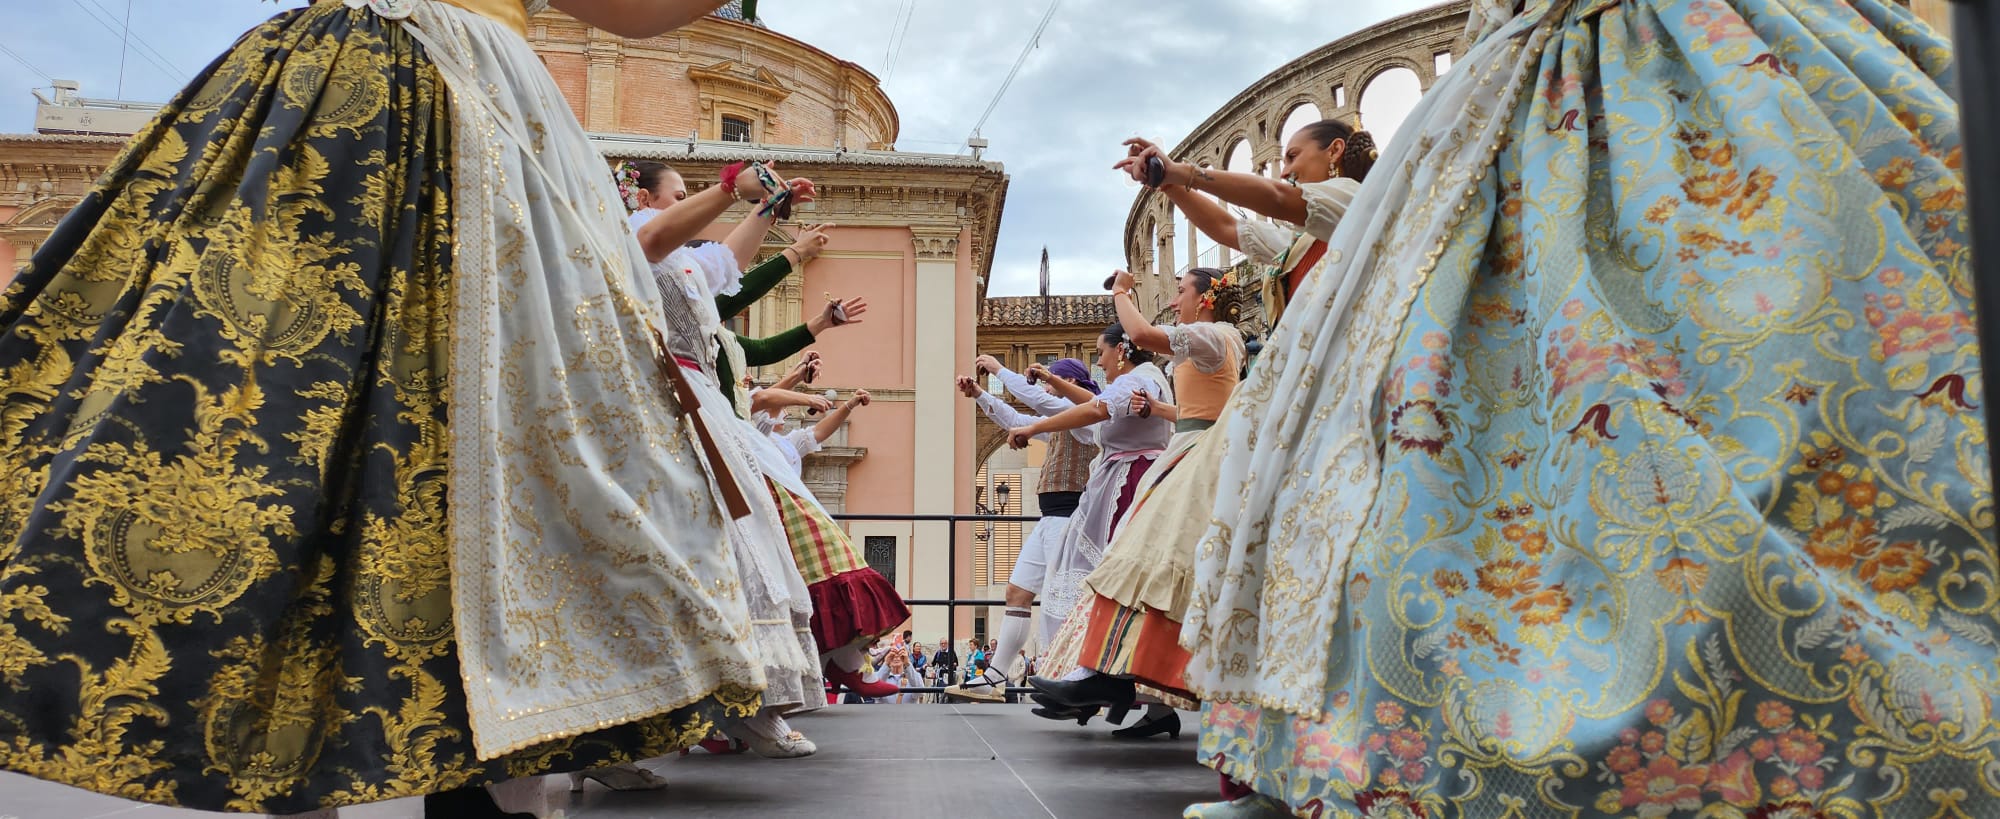
[[[1054,396],[1028,378],[1002,368],[1000,360],[992,356],[980,356],[972,368],[976,374],[1000,376],[1000,384],[1006,386],[1008,394],[1038,413],[1024,415],[1008,402],[982,390],[976,378],[960,376],[958,392],[972,398],[980,406],[980,411],[984,411],[986,417],[1002,429],[1024,427],[1034,423],[1038,417],[1058,415],[1074,406],[1070,400]],[[1100,392],[1098,384],[1090,380],[1090,368],[1074,358],[1056,360],[1046,370],[1036,364],[1030,366],[1028,372],[1036,382],[1042,378],[1048,378],[1050,382],[1060,380],[1062,384],[1086,390],[1092,398]],[[1034,529],[1028,533],[1028,541],[1022,543],[1020,555],[1014,559],[1014,573],[1006,583],[1006,617],[1000,621],[1000,645],[996,655],[1008,657],[1008,661],[1020,655],[1020,651],[1028,645],[1028,623],[1034,617],[1034,597],[1048,581],[1050,557],[1062,545],[1062,533],[1070,527],[1070,515],[1076,513],[1084,487],[1090,483],[1090,463],[1098,459],[1098,447],[1094,443],[1096,433],[1092,427],[1040,435],[1040,439],[1048,443],[1048,457],[1042,459],[1042,477],[1036,483],[1036,501],[1040,503],[1042,519],[1034,523]],[[1050,645],[1058,627],[1062,627],[1062,611],[1050,609],[1044,613],[1042,645]],[[992,669],[988,669],[986,679],[974,679],[966,685],[952,687],[946,695],[998,703],[1006,699],[1002,689],[1006,689],[1006,669],[1000,667],[1000,663],[994,663]]]

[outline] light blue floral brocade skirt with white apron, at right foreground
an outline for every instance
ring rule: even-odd
[[[1196,661],[1264,639],[1200,759],[1310,817],[2000,815],[1948,44],[1880,0],[1476,10],[1240,392],[1230,461],[1286,477],[1200,557]],[[1318,577],[1336,619],[1272,619]]]

